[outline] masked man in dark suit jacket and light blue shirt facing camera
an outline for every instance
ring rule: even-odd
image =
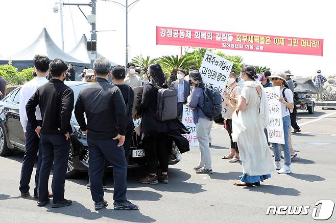
[[[190,95],[189,82],[184,80],[185,70],[177,71],[177,80],[172,82],[172,88],[177,89],[177,117],[182,121],[183,104],[187,103],[187,98]]]

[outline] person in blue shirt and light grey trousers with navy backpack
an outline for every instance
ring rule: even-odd
[[[200,144],[201,159],[194,168],[197,174],[212,174],[209,135],[212,128],[212,119],[204,115],[201,107],[204,106],[204,82],[198,70],[189,73],[189,84],[194,87],[187,106],[193,110],[196,134]]]

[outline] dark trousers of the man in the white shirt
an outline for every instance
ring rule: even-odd
[[[37,121],[37,123],[39,126],[42,126],[42,121]],[[25,156],[23,156],[22,160],[19,189],[21,193],[27,193],[29,191],[29,183],[32,177],[34,163],[38,152],[38,162],[36,166],[35,189],[34,189],[34,196],[37,196],[38,175],[40,173],[42,162],[41,143],[40,138],[37,136],[37,133],[35,132],[35,129],[32,129],[29,122],[27,123],[26,133],[27,133],[26,150],[25,150]]]

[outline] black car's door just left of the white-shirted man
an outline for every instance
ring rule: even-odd
[[[20,90],[21,88],[18,88],[11,92],[5,113],[7,113],[6,116],[8,117],[7,129],[10,143],[25,149],[26,138],[23,135],[19,115]]]

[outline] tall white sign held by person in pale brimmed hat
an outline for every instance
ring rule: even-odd
[[[282,113],[279,101],[280,87],[265,88],[265,93],[270,108],[270,124],[267,127],[268,141],[270,143],[284,144]]]

